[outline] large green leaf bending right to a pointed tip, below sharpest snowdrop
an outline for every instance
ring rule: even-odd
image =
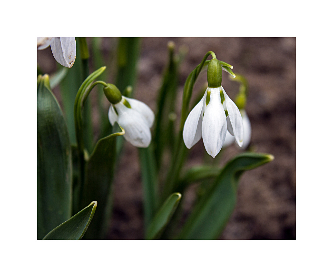
[[[235,208],[241,174],[273,159],[270,154],[246,152],[230,160],[194,206],[178,239],[217,239]]]

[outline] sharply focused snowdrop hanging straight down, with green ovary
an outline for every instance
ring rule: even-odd
[[[221,86],[220,62],[213,58],[207,69],[208,88],[200,102],[189,113],[183,130],[187,148],[191,148],[202,136],[203,144],[213,158],[224,143],[227,130],[243,145],[243,121],[237,106]]]

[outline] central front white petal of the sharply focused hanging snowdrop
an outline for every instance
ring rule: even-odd
[[[213,158],[221,150],[227,132],[227,122],[221,103],[219,88],[212,88],[210,100],[203,115],[202,140],[206,151]]]

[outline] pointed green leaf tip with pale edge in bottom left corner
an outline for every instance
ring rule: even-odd
[[[78,240],[83,237],[87,228],[93,219],[97,201],[91,202],[83,210],[76,215],[60,224],[49,232],[43,239],[63,239],[63,240]]]

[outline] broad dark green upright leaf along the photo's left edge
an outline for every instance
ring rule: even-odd
[[[71,144],[49,77],[37,84],[37,238],[71,217]]]

